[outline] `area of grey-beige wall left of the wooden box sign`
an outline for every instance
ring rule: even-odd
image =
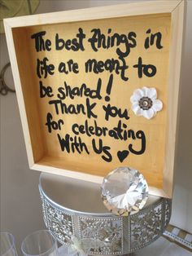
[[[0,69],[9,61],[1,35]],[[12,85],[11,70],[7,84]],[[38,195],[39,173],[28,169],[16,95],[0,95],[1,111],[1,231],[15,235],[18,245],[29,232],[44,228]]]

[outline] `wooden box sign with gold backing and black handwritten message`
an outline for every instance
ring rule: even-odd
[[[4,20],[29,166],[101,183],[140,170],[172,196],[184,1]],[[130,97],[155,87],[163,109],[137,117]]]

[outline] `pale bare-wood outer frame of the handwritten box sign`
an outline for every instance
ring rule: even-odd
[[[96,7],[87,10],[61,11],[41,15],[30,15],[4,20],[7,46],[11,59],[11,68],[15,82],[15,90],[20,108],[20,117],[24,130],[24,139],[28,154],[28,163],[31,169],[62,174],[71,178],[85,179],[91,182],[101,183],[103,177],[90,172],[74,171],[70,166],[61,168],[57,163],[49,163],[48,158],[43,161],[34,156],[34,145],[31,141],[29,124],[24,103],[20,79],[20,63],[17,60],[17,52],[14,42],[14,29],[42,24],[59,24],[83,20],[100,20],[137,15],[171,15],[171,40],[169,50],[169,77],[168,77],[168,121],[167,144],[165,146],[164,174],[162,188],[150,187],[150,193],[157,196],[172,197],[173,170],[175,162],[175,148],[177,139],[177,113],[179,100],[179,84],[181,71],[181,46],[183,37],[183,24],[185,16],[185,2],[182,0],[134,2],[110,7]],[[37,159],[35,159],[37,158]],[[65,169],[65,170],[64,170]],[[71,169],[71,170],[70,170]],[[74,168],[76,169],[76,168]]]

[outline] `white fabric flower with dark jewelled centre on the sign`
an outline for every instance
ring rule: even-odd
[[[163,103],[157,99],[155,88],[142,87],[133,91],[130,98],[132,110],[136,116],[143,116],[147,119],[155,117],[155,114],[163,108]]]

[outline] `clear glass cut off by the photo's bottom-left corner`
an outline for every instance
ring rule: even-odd
[[[9,232],[0,232],[0,255],[17,256],[15,238]]]

